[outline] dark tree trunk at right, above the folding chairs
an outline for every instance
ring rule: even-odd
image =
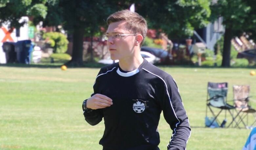
[[[230,49],[231,49],[232,29],[226,28],[224,33],[224,44],[222,53],[222,67],[230,67]]]

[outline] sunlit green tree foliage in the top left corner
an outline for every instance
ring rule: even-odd
[[[0,25],[9,23],[10,27],[19,28],[26,24],[19,22],[22,16],[31,16],[33,23],[37,24],[47,15],[46,0],[1,0]]]

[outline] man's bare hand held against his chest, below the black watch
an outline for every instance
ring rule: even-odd
[[[112,99],[102,94],[95,94],[86,101],[86,107],[90,109],[106,108],[112,104]]]

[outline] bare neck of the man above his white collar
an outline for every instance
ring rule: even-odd
[[[141,57],[140,53],[135,54],[134,56],[119,59],[119,66],[123,71],[133,71],[139,68],[143,62],[143,58]]]

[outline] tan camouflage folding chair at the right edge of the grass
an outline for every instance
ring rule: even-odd
[[[234,85],[233,86],[233,96],[234,96],[234,106],[236,107],[236,111],[239,111],[238,124],[235,125],[237,127],[239,124],[243,124],[245,128],[249,126],[254,126],[256,123],[256,110],[249,105],[249,93],[250,86],[249,85]],[[254,120],[251,125],[248,126],[248,114],[252,114]],[[246,124],[244,119],[246,119]]]

